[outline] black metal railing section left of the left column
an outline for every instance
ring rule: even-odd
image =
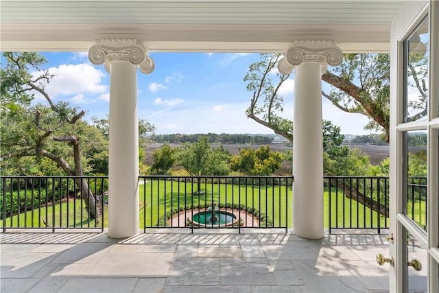
[[[108,176],[2,176],[0,223],[11,228],[104,230]]]

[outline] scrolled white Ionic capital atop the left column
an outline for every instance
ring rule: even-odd
[[[139,65],[143,73],[154,70],[154,61],[147,56],[147,51],[136,39],[130,38],[105,38],[96,40],[96,44],[88,50],[88,59],[94,65],[113,61],[125,61],[132,65]]]

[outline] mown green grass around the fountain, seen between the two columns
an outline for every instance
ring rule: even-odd
[[[197,183],[169,180],[153,180],[147,185],[141,185],[141,201],[145,200],[148,203],[146,209],[141,212],[141,224],[145,219],[145,226],[156,226],[160,219],[169,218],[171,213],[191,207],[198,211],[200,208],[211,206],[213,201],[217,207],[231,204],[241,208],[257,209],[260,215],[267,215],[274,226],[285,226],[287,219],[288,222],[292,219],[292,210],[289,209],[288,218],[285,211],[287,202],[288,206],[292,204],[291,187],[202,183],[202,192],[199,195],[195,193],[197,190]],[[230,207],[226,209],[231,211]],[[165,225],[163,220],[161,224]]]

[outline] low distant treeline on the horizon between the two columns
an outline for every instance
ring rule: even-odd
[[[209,143],[223,143],[223,144],[255,144],[262,145],[272,143],[272,137],[264,135],[249,135],[249,134],[156,134],[150,137],[156,143],[195,143],[200,137],[209,137]]]

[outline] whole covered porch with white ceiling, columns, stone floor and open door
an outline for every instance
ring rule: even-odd
[[[427,14],[429,119],[405,125],[403,42]],[[88,52],[108,69],[112,196],[103,233],[1,233],[0,291],[436,292],[438,19],[437,1],[1,1],[1,51]],[[137,69],[154,73],[154,51],[285,54],[278,71],[296,78],[292,230],[139,233]],[[324,233],[320,76],[346,53],[392,55],[391,243],[364,231]],[[429,135],[428,233],[400,196],[409,130]],[[377,253],[390,265],[378,266]],[[409,253],[423,271],[407,270]]]

